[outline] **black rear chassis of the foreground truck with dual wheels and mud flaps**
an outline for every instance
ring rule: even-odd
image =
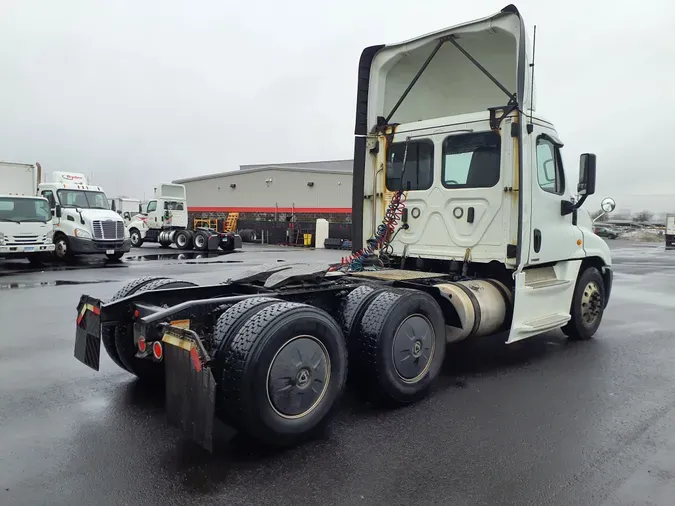
[[[275,445],[311,438],[338,404],[348,360],[369,400],[423,397],[446,345],[448,307],[431,285],[448,276],[329,268],[263,265],[208,286],[145,277],[106,302],[83,295],[75,357],[98,371],[103,343],[117,365],[163,383],[169,423],[209,451],[215,418]]]

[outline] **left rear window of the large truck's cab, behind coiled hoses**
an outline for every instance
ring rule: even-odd
[[[386,185],[389,191],[428,190],[434,181],[434,144],[430,140],[395,142],[387,152]],[[405,172],[403,173],[403,158]],[[403,173],[403,174],[402,174]],[[401,186],[403,175],[403,186]],[[408,186],[409,185],[409,186]]]

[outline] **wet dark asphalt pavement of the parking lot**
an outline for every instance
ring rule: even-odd
[[[0,504],[672,505],[675,251],[610,243],[615,285],[592,341],[555,332],[451,348],[414,406],[347,396],[321,441],[279,452],[223,430],[214,455],[166,424],[163,392],[104,352],[99,373],[73,357],[80,294],[340,252],[245,245],[44,272],[0,263]]]

